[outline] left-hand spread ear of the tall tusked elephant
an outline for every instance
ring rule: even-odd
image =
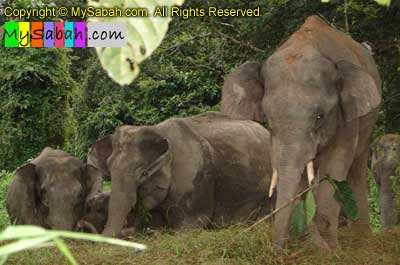
[[[221,111],[233,119],[264,122],[261,64],[246,62],[235,68],[222,88]]]

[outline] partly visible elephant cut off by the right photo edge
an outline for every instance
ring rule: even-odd
[[[372,155],[372,170],[379,190],[381,225],[384,231],[400,222],[400,205],[396,201],[394,185],[396,169],[400,166],[400,135],[387,134],[379,139]],[[397,178],[398,181],[398,178]],[[398,196],[398,194],[397,194]]]

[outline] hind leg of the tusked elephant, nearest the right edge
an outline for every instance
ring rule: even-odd
[[[358,219],[352,227],[360,232],[371,232],[368,221],[368,177],[367,177],[368,152],[356,158],[350,168],[348,182],[353,190],[358,208]]]

